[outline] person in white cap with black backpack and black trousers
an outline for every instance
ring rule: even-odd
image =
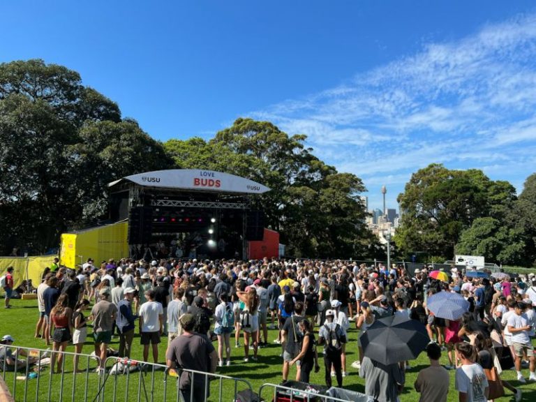
[[[341,354],[343,345],[346,343],[346,334],[341,328],[341,325],[335,321],[336,312],[333,309],[326,311],[326,322],[318,330],[318,345],[324,345],[324,365],[325,365],[325,380],[327,387],[332,386],[332,367],[335,369],[335,377],[337,386],[343,387],[343,369],[341,362]],[[338,342],[341,343],[341,348],[335,350],[330,348],[329,343],[333,343],[332,333],[336,334]]]

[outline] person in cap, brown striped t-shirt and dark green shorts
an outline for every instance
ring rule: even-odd
[[[91,318],[93,318],[95,355],[101,358],[98,373],[104,374],[107,346],[112,341],[117,307],[110,301],[110,290],[108,288],[103,288],[99,292],[99,297],[100,300],[91,310]]]

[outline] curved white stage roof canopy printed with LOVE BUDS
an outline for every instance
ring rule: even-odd
[[[156,170],[132,174],[112,181],[108,187],[131,181],[138,186],[172,188],[187,191],[211,191],[216,193],[262,194],[270,189],[253,180],[223,172],[202,169]]]

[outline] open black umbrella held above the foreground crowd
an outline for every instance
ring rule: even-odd
[[[386,365],[417,358],[430,342],[421,322],[400,315],[376,320],[360,339],[364,355]]]

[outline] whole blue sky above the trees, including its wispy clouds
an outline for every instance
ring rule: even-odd
[[[429,163],[536,171],[533,1],[3,1],[0,61],[82,75],[159,140],[268,119],[388,207]]]

